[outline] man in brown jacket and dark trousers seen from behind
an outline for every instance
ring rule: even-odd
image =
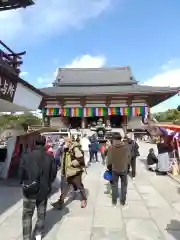
[[[130,163],[130,148],[127,141],[123,141],[119,133],[113,135],[112,145],[108,148],[107,168],[112,169],[112,204],[117,204],[118,181],[121,179],[121,199],[122,205],[126,203],[127,194],[127,172]]]

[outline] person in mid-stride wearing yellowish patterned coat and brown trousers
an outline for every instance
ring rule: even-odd
[[[60,198],[52,203],[52,206],[61,210],[64,206],[64,200],[71,186],[78,189],[81,194],[81,207],[85,208],[87,204],[86,193],[82,183],[83,168],[85,167],[84,155],[81,145],[67,139],[64,146],[62,157],[62,185]],[[66,184],[67,182],[67,184]]]

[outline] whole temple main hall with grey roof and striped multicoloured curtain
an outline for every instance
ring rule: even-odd
[[[138,83],[130,67],[59,68],[52,87],[42,88],[46,126],[87,128],[101,118],[106,126],[145,119],[150,108],[176,95],[179,88]]]

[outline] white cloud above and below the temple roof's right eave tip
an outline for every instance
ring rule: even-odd
[[[163,65],[163,72],[153,76],[151,79],[144,82],[144,85],[159,86],[159,87],[180,87],[180,66],[177,67],[179,59],[171,60]],[[151,112],[163,112],[170,108],[177,108],[180,102],[179,96],[174,96],[159,105],[153,107]]]

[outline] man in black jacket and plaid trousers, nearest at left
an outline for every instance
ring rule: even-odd
[[[42,239],[46,206],[51,184],[57,169],[54,157],[45,151],[46,139],[36,141],[35,149],[22,156],[19,176],[23,189],[23,240],[32,239],[32,217],[37,208],[37,223],[34,234],[36,240]]]

